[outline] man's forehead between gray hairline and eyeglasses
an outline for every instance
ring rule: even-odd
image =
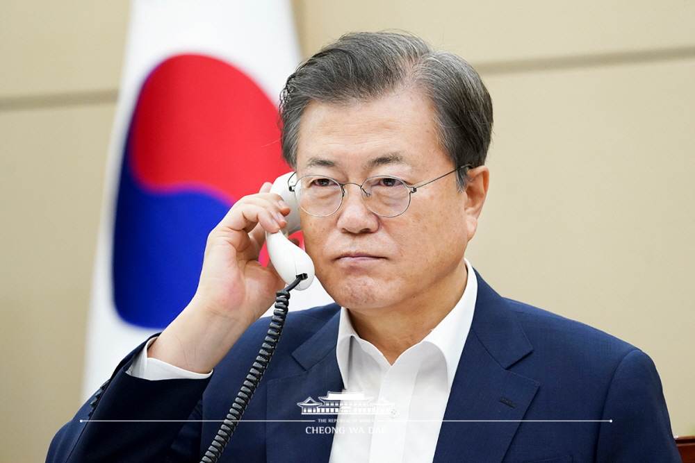
[[[382,165],[423,170],[450,165],[439,146],[434,110],[418,89],[372,101],[311,101],[300,121],[297,171],[328,168],[369,171]]]

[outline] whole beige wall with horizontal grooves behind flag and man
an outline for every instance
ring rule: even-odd
[[[502,294],[650,354],[674,432],[695,434],[695,3],[294,6],[305,56],[345,31],[402,28],[480,69],[496,128],[469,259]],[[128,9],[0,3],[3,462],[42,460],[79,405]]]

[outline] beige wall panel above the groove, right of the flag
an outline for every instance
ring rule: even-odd
[[[401,28],[473,63],[695,47],[695,3],[295,0],[305,56],[347,31]],[[691,51],[692,53],[692,51]]]

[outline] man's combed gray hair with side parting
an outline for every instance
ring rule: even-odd
[[[483,165],[492,135],[492,101],[475,69],[414,35],[348,33],[304,61],[280,95],[282,155],[295,168],[300,119],[313,100],[371,101],[399,86],[423,89],[434,107],[439,142],[455,167]],[[466,169],[460,169],[459,186]]]

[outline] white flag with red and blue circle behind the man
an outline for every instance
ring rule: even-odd
[[[83,396],[195,292],[210,230],[289,171],[277,100],[299,62],[287,0],[134,0],[109,149]],[[328,303],[318,281],[292,309]]]

